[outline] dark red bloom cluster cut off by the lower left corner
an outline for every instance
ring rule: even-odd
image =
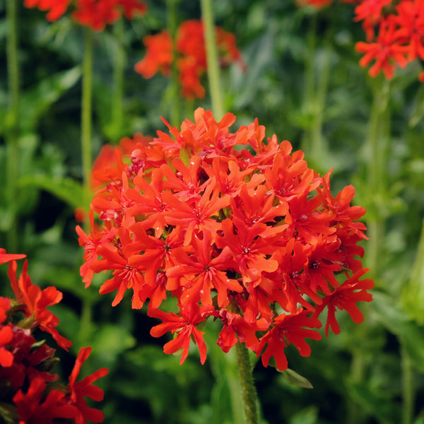
[[[0,297],[0,421],[11,424],[54,424],[66,422],[86,424],[90,420],[100,423],[103,413],[90,408],[86,397],[103,399],[103,391],[93,386],[96,379],[107,374],[103,368],[80,382],[76,379],[81,365],[90,355],[91,348],[81,348],[69,376],[69,384],[55,383],[59,378],[52,372],[57,362],[55,350],[45,341],[37,341],[36,329],[47,331],[66,351],[71,342],[55,328],[59,319],[46,308],[56,305],[62,293],[54,287],[42,290],[31,283],[27,262],[17,276],[15,259],[23,254],[7,254],[0,249],[0,264],[10,262],[8,277],[14,299]]]

